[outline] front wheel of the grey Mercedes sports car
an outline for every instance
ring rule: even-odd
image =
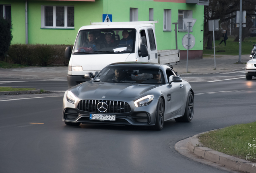
[[[164,114],[165,114],[165,105],[163,99],[160,98],[157,103],[157,115],[154,130],[162,130],[163,129],[163,122],[164,122]]]

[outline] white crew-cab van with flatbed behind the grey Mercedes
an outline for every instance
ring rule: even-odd
[[[90,80],[85,74],[93,73],[95,76],[105,66],[114,62],[143,61],[159,63],[157,43],[155,38],[155,24],[157,21],[146,22],[111,22],[91,23],[82,26],[76,36],[71,51],[68,46],[65,57],[70,58],[68,64],[68,87]],[[179,51],[178,59],[180,61]],[[163,52],[168,59],[170,52]],[[173,52],[172,52],[173,54]],[[168,60],[167,60],[168,61]],[[171,61],[171,62],[170,62]],[[169,64],[174,62],[164,64]]]

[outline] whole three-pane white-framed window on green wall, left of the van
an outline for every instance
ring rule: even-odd
[[[74,28],[74,7],[41,6],[41,28]]]

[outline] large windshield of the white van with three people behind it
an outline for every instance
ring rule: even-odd
[[[133,53],[135,29],[81,30],[73,54]]]

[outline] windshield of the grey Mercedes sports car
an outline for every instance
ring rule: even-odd
[[[108,66],[94,78],[95,82],[163,84],[163,72],[157,68]]]

